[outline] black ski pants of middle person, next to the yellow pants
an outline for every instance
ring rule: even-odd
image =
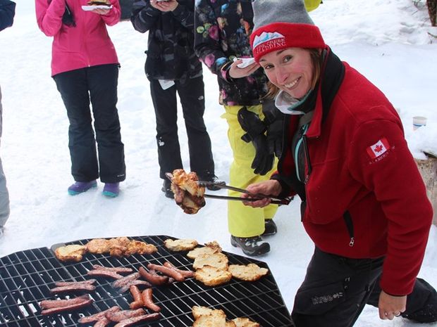
[[[156,143],[158,145],[159,177],[165,179],[166,172],[183,168],[178,139],[178,103],[182,105],[185,128],[187,129],[190,169],[200,179],[214,176],[214,160],[211,139],[205,126],[203,77],[176,80],[168,89],[162,89],[157,79],[150,82],[150,93],[156,116]]]

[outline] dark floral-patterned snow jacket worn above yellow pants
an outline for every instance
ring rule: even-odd
[[[219,80],[222,105],[257,105],[267,92],[267,79],[260,68],[254,74],[230,78],[235,57],[252,57],[249,36],[253,28],[250,0],[197,0],[195,6],[195,51]]]

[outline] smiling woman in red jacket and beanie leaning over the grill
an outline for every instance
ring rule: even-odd
[[[302,0],[254,1],[251,44],[289,118],[278,172],[247,190],[299,195],[316,247],[295,325],[352,326],[366,303],[437,321],[436,290],[416,278],[432,208],[393,105],[326,46]]]

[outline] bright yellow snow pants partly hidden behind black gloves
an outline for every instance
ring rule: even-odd
[[[238,122],[237,113],[242,105],[225,105],[226,113],[221,115],[228,122],[228,139],[233,152],[233,162],[229,169],[229,185],[239,188],[246,188],[249,184],[270,179],[271,174],[276,170],[278,163],[275,158],[273,169],[261,176],[254,174],[250,166],[255,156],[255,148],[252,143],[242,141],[241,136],[245,131]],[[264,119],[262,106],[254,105],[246,107],[257,113],[261,120]],[[228,191],[230,196],[240,196],[241,193]],[[278,210],[278,205],[268,205],[264,208],[246,207],[240,201],[228,201],[228,229],[231,235],[237,237],[259,236],[264,233],[264,219],[271,219]]]

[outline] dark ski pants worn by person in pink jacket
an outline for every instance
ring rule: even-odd
[[[53,77],[70,121],[68,148],[75,181],[100,177],[104,183],[115,183],[125,179],[124,146],[116,108],[118,67],[97,65]]]

